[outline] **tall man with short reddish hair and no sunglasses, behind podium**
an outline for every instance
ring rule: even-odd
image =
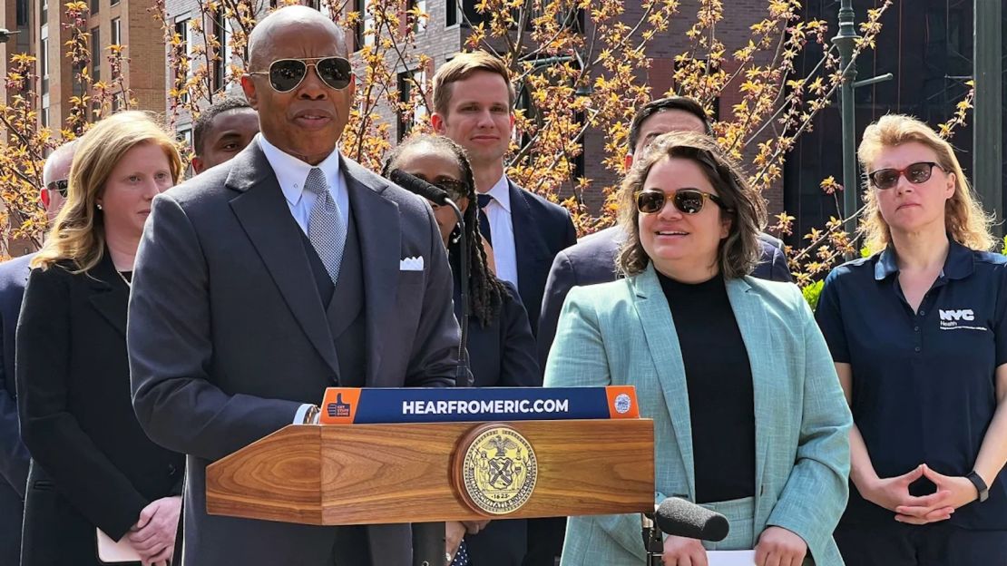
[[[437,69],[433,92],[431,124],[468,153],[479,193],[479,228],[493,250],[496,276],[518,287],[534,332],[549,266],[560,250],[577,242],[570,214],[503,172],[515,98],[503,61],[482,51],[457,55]]]

